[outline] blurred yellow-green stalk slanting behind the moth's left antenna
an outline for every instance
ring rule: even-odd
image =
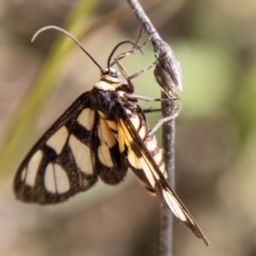
[[[96,6],[96,1],[79,1],[73,11],[67,17],[66,26],[69,32],[75,37],[84,33],[84,20],[88,18]],[[19,111],[14,115],[9,131],[6,132],[6,139],[0,150],[0,175],[5,175],[13,164],[13,159],[20,154],[20,145],[26,142],[30,135],[32,125],[36,121],[39,111],[44,102],[49,98],[54,88],[55,79],[58,78],[62,64],[68,51],[73,47],[73,42],[63,35],[60,35],[52,49],[44,60],[44,66],[39,71],[37,78],[32,84],[26,99],[20,106]]]

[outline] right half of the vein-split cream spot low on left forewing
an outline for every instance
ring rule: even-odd
[[[55,183],[58,193],[65,193],[70,189],[69,179],[67,172],[62,168],[62,166],[55,164]]]

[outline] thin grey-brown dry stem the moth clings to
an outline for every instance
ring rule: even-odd
[[[168,57],[172,56],[172,49],[160,38],[160,35],[158,32],[156,32],[153,24],[148,19],[148,16],[143,11],[142,6],[137,0],[127,0],[127,2],[130,4],[131,9],[133,10],[134,14],[137,16],[137,19],[142,24],[144,30],[148,33],[148,36],[151,38],[151,42],[154,46],[154,55],[156,56],[158,60],[158,70],[155,74],[157,82],[160,84],[161,88],[165,90],[165,82],[168,79],[165,79],[163,77],[163,74],[168,73],[167,75],[174,81],[174,84],[176,86],[177,83],[177,76],[176,74],[173,75],[172,68],[170,71],[170,68],[168,70],[167,67],[171,67],[170,63],[172,63],[172,60]],[[167,46],[166,46],[167,45]],[[169,51],[169,52],[168,52]],[[162,54],[164,53],[164,54]],[[164,56],[164,58],[163,58]],[[166,69],[163,70],[163,69]],[[170,72],[169,72],[170,71]],[[175,83],[176,82],[176,83]],[[170,85],[168,84],[170,87]],[[170,90],[171,88],[168,88],[166,90]],[[165,90],[165,91],[166,91]],[[169,98],[172,96],[171,94],[167,93],[167,96]],[[174,94],[175,96],[175,94]],[[166,94],[162,93],[162,97],[166,97]],[[162,116],[167,117],[174,113],[174,102],[162,102]],[[168,173],[168,182],[170,183],[172,189],[175,187],[175,172],[174,172],[174,119],[171,121],[166,122],[163,125],[163,131],[162,131],[162,142],[163,142],[163,148],[164,148],[164,161],[166,165],[166,171]],[[160,238],[159,238],[159,256],[172,256],[173,255],[173,249],[172,249],[172,222],[173,222],[173,215],[172,212],[167,209],[164,206],[161,206],[161,212],[160,212]]]

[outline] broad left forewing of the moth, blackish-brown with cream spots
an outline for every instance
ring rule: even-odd
[[[21,201],[51,204],[90,189],[96,183],[93,130],[97,113],[90,92],[67,108],[21,163],[15,195]]]

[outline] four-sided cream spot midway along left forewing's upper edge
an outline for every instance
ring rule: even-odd
[[[61,154],[62,148],[65,146],[67,142],[68,131],[66,126],[61,126],[61,128],[49,137],[46,145],[50,148],[53,148],[56,154]]]

